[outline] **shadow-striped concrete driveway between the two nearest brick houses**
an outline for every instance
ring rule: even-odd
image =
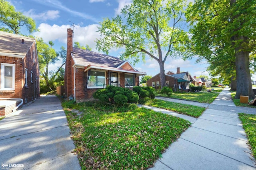
[[[79,170],[74,148],[56,96],[42,96],[0,121],[2,169]]]

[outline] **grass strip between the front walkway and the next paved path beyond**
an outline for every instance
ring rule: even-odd
[[[162,109],[167,109],[170,111],[175,111],[177,113],[188,115],[191,117],[200,117],[202,113],[205,111],[204,107],[184,105],[181,103],[174,103],[159,99],[148,99],[144,104]]]

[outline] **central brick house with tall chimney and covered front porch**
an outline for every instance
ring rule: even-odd
[[[107,85],[128,87],[138,85],[139,76],[129,61],[73,47],[73,30],[68,29],[67,57],[64,76],[66,97],[76,101],[92,98],[92,94]]]

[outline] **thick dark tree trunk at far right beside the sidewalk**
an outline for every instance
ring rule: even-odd
[[[246,42],[244,36],[236,36],[236,41],[242,40]],[[240,99],[240,96],[249,96],[249,99],[254,99],[255,95],[252,90],[252,81],[250,75],[249,51],[242,49],[242,43],[236,47],[236,96],[235,99]]]

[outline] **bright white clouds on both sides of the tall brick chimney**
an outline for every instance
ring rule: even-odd
[[[93,51],[96,51],[96,38],[100,38],[98,30],[98,24],[88,25],[86,27],[76,26],[74,29],[74,38],[73,42],[79,42],[80,45],[88,44]],[[59,41],[61,43],[67,43],[67,29],[71,28],[70,25],[58,26],[56,24],[49,25],[46,23],[40,24],[38,29],[40,32],[35,32],[33,35],[37,37],[42,37],[44,42]],[[73,28],[72,28],[73,29]],[[66,47],[64,45],[64,47]]]

